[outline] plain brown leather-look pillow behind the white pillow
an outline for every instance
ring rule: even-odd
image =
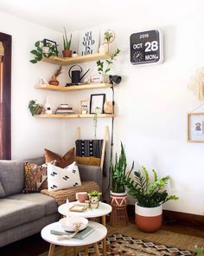
[[[75,148],[71,148],[64,156],[56,154],[47,148],[45,148],[45,162],[50,162],[56,160],[57,167],[67,167],[75,161]]]

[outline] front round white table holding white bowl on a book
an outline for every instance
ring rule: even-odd
[[[93,227],[94,231],[92,233],[90,233],[85,239],[77,240],[77,239],[72,238],[70,240],[67,240],[65,238],[65,239],[58,240],[58,236],[50,233],[50,230],[56,228],[59,225],[61,225],[59,222],[54,222],[52,224],[49,224],[48,226],[45,226],[41,230],[42,239],[46,240],[47,242],[50,243],[48,256],[54,255],[55,245],[73,246],[73,247],[86,246],[86,250],[85,250],[85,256],[86,256],[86,255],[88,255],[88,245],[91,245],[91,244],[93,244],[93,247],[95,250],[95,255],[96,256],[100,255],[99,247],[98,247],[97,243],[99,242],[99,240],[103,240],[107,234],[107,229],[104,225],[99,224],[97,222],[89,221],[88,226]]]

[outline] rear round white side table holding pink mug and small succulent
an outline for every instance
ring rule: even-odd
[[[69,207],[72,207],[77,202],[70,202]],[[62,215],[67,215],[67,204],[63,204],[58,207],[58,212]],[[96,218],[102,217],[102,224],[106,225],[105,215],[112,212],[112,207],[108,204],[103,202],[99,202],[99,207],[97,209],[87,208],[84,212],[69,212],[70,216],[81,216],[85,218]],[[105,238],[103,239],[103,256],[106,255],[106,245],[105,245]]]

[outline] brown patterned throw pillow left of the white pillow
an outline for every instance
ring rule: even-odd
[[[23,193],[41,192],[48,188],[47,164],[38,166],[29,161],[24,163],[25,185]]]

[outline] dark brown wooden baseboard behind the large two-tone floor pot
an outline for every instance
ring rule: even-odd
[[[135,215],[135,206],[128,205],[127,212],[128,216],[133,219]],[[176,224],[204,230],[203,215],[163,210],[163,223],[166,225]]]

